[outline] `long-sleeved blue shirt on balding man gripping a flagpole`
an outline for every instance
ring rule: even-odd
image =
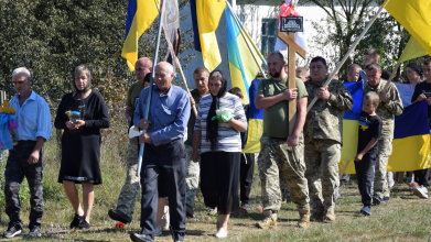
[[[147,98],[150,88],[144,88],[139,95],[139,102],[134,110],[133,124],[146,114]],[[182,139],[190,118],[190,97],[187,92],[172,85],[168,94],[161,95],[157,85],[152,88],[151,106],[148,120],[151,122],[147,132],[155,146]]]

